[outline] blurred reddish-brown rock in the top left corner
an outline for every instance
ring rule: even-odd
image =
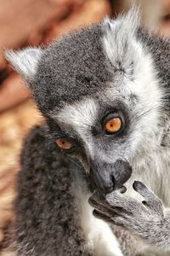
[[[60,20],[68,9],[82,3],[82,0],[15,0],[1,2],[0,50],[18,48],[27,41],[35,28],[44,30],[48,22]]]

